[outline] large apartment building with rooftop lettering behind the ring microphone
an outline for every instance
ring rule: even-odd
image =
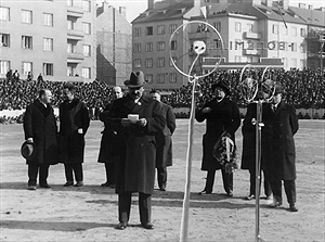
[[[179,29],[179,38],[173,39],[170,29],[195,21],[209,23],[221,39],[199,24]],[[317,53],[325,51],[324,26],[324,9],[291,8],[288,0],[148,0],[148,9],[132,22],[133,69],[144,72],[147,88],[180,88],[188,78],[170,60],[185,74],[190,72],[196,40],[204,41],[207,50],[213,41],[217,47],[202,54],[196,73],[205,72],[208,58],[243,65],[278,59],[285,69],[321,67],[324,59]]]

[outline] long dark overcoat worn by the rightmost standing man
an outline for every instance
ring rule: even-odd
[[[274,113],[271,104],[262,116],[262,166],[269,180],[296,179],[296,148],[294,135],[299,129],[294,105],[281,101]]]

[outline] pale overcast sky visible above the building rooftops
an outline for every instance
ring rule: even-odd
[[[96,0],[99,3],[104,0]],[[127,20],[133,21],[140,13],[144,12],[147,8],[147,0],[106,0],[115,8],[127,7]],[[313,8],[325,7],[325,0],[289,0],[290,5],[297,7],[298,3],[312,4]]]

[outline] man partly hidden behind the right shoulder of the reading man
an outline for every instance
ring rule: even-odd
[[[162,131],[156,135],[157,152],[156,168],[157,180],[160,191],[166,191],[167,186],[167,167],[172,166],[172,139],[171,136],[176,129],[176,116],[172,107],[161,102],[160,93],[157,90],[151,91],[151,97],[161,104],[162,115],[166,119],[166,126]]]

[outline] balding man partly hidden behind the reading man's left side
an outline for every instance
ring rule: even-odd
[[[115,162],[119,158],[117,139],[117,131],[107,118],[113,106],[113,101],[123,97],[123,92],[119,86],[112,89],[112,102],[108,103],[104,111],[100,114],[100,120],[104,123],[104,130],[102,131],[101,148],[99,154],[99,163],[105,164],[106,182],[102,187],[115,188]]]

